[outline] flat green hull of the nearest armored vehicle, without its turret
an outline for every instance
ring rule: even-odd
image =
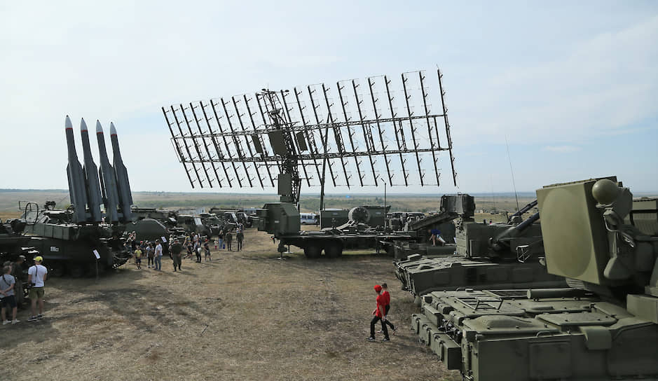
[[[434,291],[411,329],[466,380],[658,377],[658,325],[579,290]]]

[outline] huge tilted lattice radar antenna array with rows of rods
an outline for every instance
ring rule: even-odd
[[[192,188],[277,183],[282,202],[298,203],[302,184],[439,186],[441,151],[456,186],[439,69],[436,75],[262,89],[162,111]]]

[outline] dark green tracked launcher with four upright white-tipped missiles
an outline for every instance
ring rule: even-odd
[[[14,224],[20,229],[13,229],[12,237],[1,245],[2,256],[16,256],[23,247],[34,247],[43,256],[43,265],[48,267],[51,276],[68,274],[79,277],[95,273],[96,267],[102,271],[128,261],[131,254],[123,244],[126,231],[139,230],[143,237],[138,235],[138,240],[166,235],[166,229],[157,221],[142,219],[133,223],[128,172],[121,159],[114,125],[110,130],[114,165],[109,163],[102,127],[96,123],[100,153],[100,169],[97,170],[88,128],[85,121],[81,121],[84,154],[84,166],[81,166],[76,154],[73,125],[67,116],[65,132],[71,206],[66,210],[56,210],[54,202],[47,202],[43,208],[34,202],[27,203],[21,208],[20,223]],[[101,212],[101,203],[105,207],[104,213]]]

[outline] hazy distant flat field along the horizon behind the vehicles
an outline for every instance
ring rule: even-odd
[[[516,209],[514,196],[509,195],[476,195],[476,208],[485,212],[512,211]],[[165,193],[165,192],[135,192],[132,194],[138,207],[158,207],[167,209],[197,209],[205,207],[263,207],[266,202],[275,202],[278,196],[274,194],[240,195],[226,193]],[[523,193],[519,196],[519,206],[533,200],[533,195]],[[64,190],[46,191],[16,191],[0,190],[0,218],[7,219],[18,216],[18,202],[32,201],[43,205],[46,200],[57,202],[57,207],[69,205],[69,192]],[[392,211],[430,212],[439,209],[440,195],[388,195],[386,203]],[[328,208],[351,208],[359,205],[383,205],[383,195],[327,195],[325,205]],[[301,209],[313,212],[320,206],[319,195],[302,195]]]

